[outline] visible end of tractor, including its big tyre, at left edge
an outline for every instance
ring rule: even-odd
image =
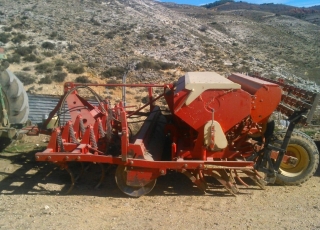
[[[21,81],[7,68],[4,49],[0,47],[0,150],[5,148],[28,121],[28,95]]]

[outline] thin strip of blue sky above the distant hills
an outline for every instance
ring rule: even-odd
[[[175,2],[178,4],[190,4],[200,6],[203,4],[215,2],[216,0],[160,0],[161,2]],[[239,0],[236,0],[238,2]],[[298,7],[309,7],[320,5],[320,0],[243,0],[244,2],[262,4],[262,3],[277,3],[277,4],[286,4],[290,6],[298,6]]]

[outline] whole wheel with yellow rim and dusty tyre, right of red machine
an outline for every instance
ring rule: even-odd
[[[285,132],[276,134],[276,139],[281,142]],[[275,144],[275,143],[273,143]],[[296,166],[290,166],[282,163],[276,184],[280,185],[300,185],[312,177],[319,165],[319,151],[314,141],[305,133],[293,131],[288,148],[287,155],[292,154],[298,158]]]

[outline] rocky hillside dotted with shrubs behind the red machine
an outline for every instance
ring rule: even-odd
[[[124,73],[128,82],[172,82],[185,71],[317,81],[319,29],[259,10],[152,0],[0,2],[9,69],[29,92],[41,94],[60,94],[64,81],[121,81]]]

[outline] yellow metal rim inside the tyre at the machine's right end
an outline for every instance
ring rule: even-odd
[[[309,165],[309,155],[308,152],[300,145],[289,144],[287,148],[287,156],[292,156],[297,158],[297,165],[289,165],[285,163],[281,163],[280,170],[281,174],[288,177],[298,176],[303,173],[305,169],[308,168]]]

